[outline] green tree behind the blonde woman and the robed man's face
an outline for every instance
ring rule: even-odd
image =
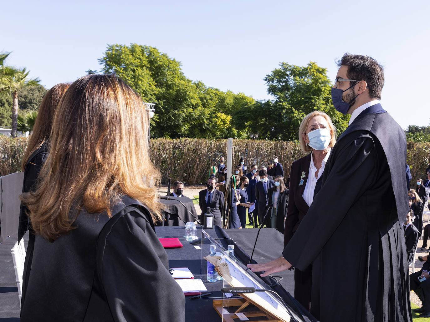
[[[264,80],[274,100],[260,101],[238,112],[249,120],[250,131],[258,132],[259,138],[297,140],[301,120],[313,110],[326,112],[338,135],[347,128],[350,116],[337,112],[332,105],[332,85],[326,68],[312,61],[306,66],[283,62]],[[257,122],[251,122],[250,116]]]

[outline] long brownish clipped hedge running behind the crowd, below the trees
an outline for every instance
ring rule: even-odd
[[[21,171],[21,159],[28,138],[0,136],[0,175]],[[181,180],[187,184],[206,182],[209,167],[218,165],[219,158],[227,155],[227,140],[205,139],[154,139],[150,141],[151,160],[160,169],[162,180]],[[298,142],[233,140],[233,167],[240,158],[245,164],[265,165],[279,157],[286,174],[291,163],[304,156]],[[226,158],[227,159],[227,158]],[[407,163],[411,168],[412,182],[426,179],[430,163],[430,143],[408,142]],[[412,185],[413,187],[414,185]]]

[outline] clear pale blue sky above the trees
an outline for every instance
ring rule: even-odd
[[[278,64],[315,61],[337,72],[345,52],[384,66],[382,105],[396,121],[429,125],[430,1],[1,1],[0,51],[46,88],[98,70],[107,44],[157,47],[207,86],[269,99]]]

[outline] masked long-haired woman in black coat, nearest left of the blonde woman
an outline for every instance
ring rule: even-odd
[[[284,233],[284,221],[287,216],[289,190],[286,188],[282,176],[275,177],[275,185],[267,190],[269,205],[272,204],[270,228]]]

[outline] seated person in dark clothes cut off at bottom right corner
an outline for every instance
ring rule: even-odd
[[[409,289],[414,291],[420,298],[422,307],[415,309],[415,312],[421,313],[420,317],[430,317],[430,258],[424,263],[419,272],[409,275]]]

